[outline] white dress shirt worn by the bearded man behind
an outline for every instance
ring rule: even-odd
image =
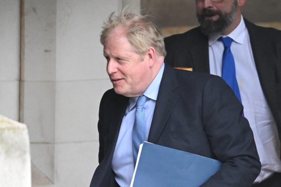
[[[233,39],[231,51],[234,56],[244,116],[250,123],[261,161],[261,173],[255,180],[255,183],[258,183],[274,172],[281,172],[280,139],[276,122],[261,88],[249,33],[242,16],[239,25],[227,36]],[[218,34],[209,36],[209,60],[210,73],[221,77],[224,46],[222,42],[217,41],[219,37],[221,35]]]

